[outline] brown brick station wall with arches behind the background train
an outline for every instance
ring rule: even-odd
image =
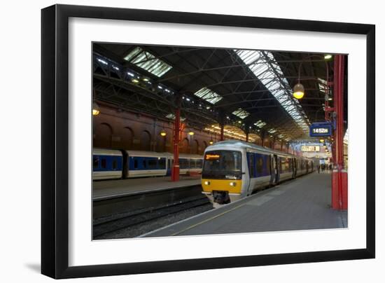
[[[172,121],[158,120],[104,104],[99,104],[99,108],[99,115],[93,116],[94,147],[172,153],[174,126]],[[167,133],[165,137],[160,135],[162,130]],[[193,136],[188,134],[190,130],[193,130]],[[211,140],[218,141],[218,134],[186,127],[182,132],[179,152],[202,155]],[[255,144],[261,145],[261,139],[258,139]],[[264,146],[281,150],[281,142],[274,142],[269,137],[265,137]],[[286,144],[283,144],[282,151],[287,152]]]

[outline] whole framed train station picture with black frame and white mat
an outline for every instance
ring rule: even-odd
[[[44,275],[374,258],[374,25],[55,5],[41,33]]]

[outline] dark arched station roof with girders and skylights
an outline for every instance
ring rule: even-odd
[[[332,59],[314,53],[94,43],[93,59],[98,102],[169,120],[180,105],[189,127],[224,123],[286,141],[324,120],[326,69],[333,75]],[[305,96],[297,100],[299,69]]]

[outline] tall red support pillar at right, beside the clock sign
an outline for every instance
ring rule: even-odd
[[[335,168],[332,172],[332,209],[347,209],[347,172],[344,170],[344,55],[335,55]]]

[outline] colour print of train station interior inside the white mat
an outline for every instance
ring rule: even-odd
[[[94,240],[348,227],[348,55],[92,58]]]

